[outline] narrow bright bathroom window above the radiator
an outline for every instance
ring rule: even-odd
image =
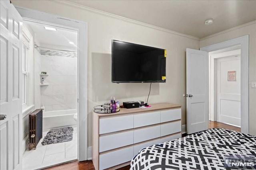
[[[27,59],[28,59],[28,47],[23,43],[23,52],[22,52],[22,104],[27,104],[28,97],[28,71],[27,71]]]

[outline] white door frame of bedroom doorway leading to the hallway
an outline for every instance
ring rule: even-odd
[[[201,47],[212,52],[240,45],[241,49],[241,132],[249,133],[249,35],[230,39],[221,43]]]

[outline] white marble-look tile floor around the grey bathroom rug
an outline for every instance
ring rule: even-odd
[[[42,145],[48,131],[43,132],[36,150],[26,150],[22,157],[23,170],[35,170],[77,159],[77,127],[73,127],[72,141]]]

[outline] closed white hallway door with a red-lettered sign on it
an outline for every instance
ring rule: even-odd
[[[240,56],[217,59],[217,121],[238,127],[241,126],[240,66]]]

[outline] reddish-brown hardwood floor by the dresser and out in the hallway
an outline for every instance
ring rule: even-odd
[[[217,121],[209,121],[209,129],[211,128],[223,128],[223,129],[230,129],[234,131],[240,132],[240,127],[235,127],[232,125],[227,125],[224,123],[220,123]],[[125,166],[123,168],[120,168],[119,170],[129,170],[130,166]],[[92,160],[86,160],[83,162],[70,162],[58,166],[53,166],[51,168],[46,168],[46,170],[94,170],[94,166],[92,164]]]

